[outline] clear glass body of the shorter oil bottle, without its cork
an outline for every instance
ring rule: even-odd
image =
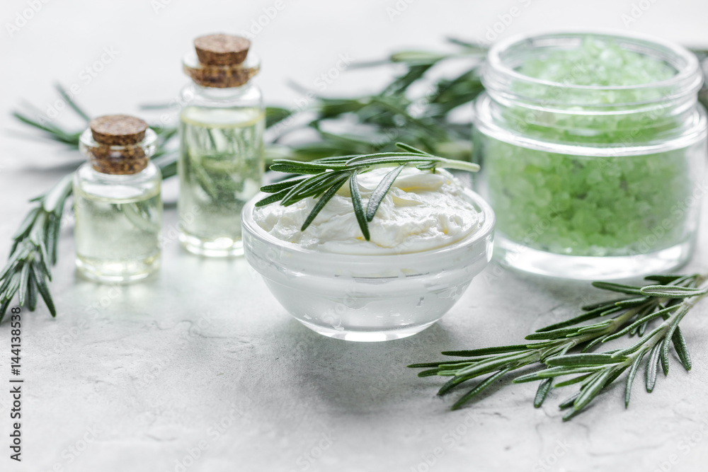
[[[148,129],[137,146],[146,157],[155,151],[156,135]],[[81,151],[93,159],[101,144],[91,130],[81,134]],[[110,146],[120,159],[125,146]],[[74,174],[74,239],[76,266],[99,282],[132,282],[160,265],[162,200],[161,174],[152,162],[137,173],[101,173],[91,162]]]

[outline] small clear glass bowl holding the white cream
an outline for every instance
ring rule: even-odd
[[[275,238],[253,219],[261,193],[241,214],[246,260],[280,304],[321,335],[406,338],[447,313],[491,260],[494,213],[475,192],[464,193],[481,212],[477,231],[442,248],[393,255],[326,253]]]

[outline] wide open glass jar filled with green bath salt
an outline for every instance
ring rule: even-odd
[[[635,35],[510,38],[482,80],[475,185],[503,265],[607,280],[690,258],[707,159],[691,52]]]

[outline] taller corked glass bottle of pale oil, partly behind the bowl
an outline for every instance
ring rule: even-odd
[[[260,62],[239,36],[207,35],[194,45],[183,59],[193,83],[181,97],[180,241],[200,255],[241,255],[241,209],[263,178],[265,108],[250,82]]]

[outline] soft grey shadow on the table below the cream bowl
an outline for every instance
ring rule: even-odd
[[[430,382],[406,365],[438,359],[450,346],[450,333],[440,323],[410,338],[380,343],[326,338],[295,320],[273,329],[282,345],[278,370],[287,369],[293,380],[288,388],[299,390],[293,395],[349,412],[406,408],[401,402],[410,396],[433,396],[435,390],[426,386]]]

